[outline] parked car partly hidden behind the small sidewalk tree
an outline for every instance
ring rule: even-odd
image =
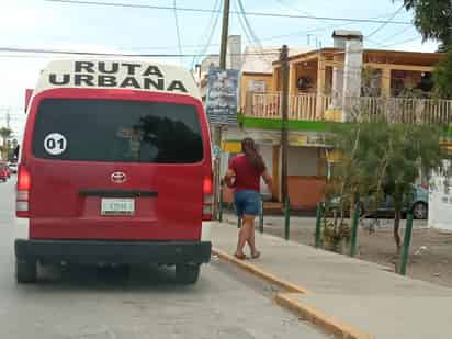
[[[375,197],[372,195],[365,196],[361,199],[361,211],[360,214],[364,214],[366,211],[370,212],[374,210],[372,207],[372,201]],[[403,207],[403,213],[407,213],[411,211],[414,217],[416,219],[427,219],[428,217],[428,204],[429,204],[429,191],[421,185],[413,185],[413,203],[408,203],[408,199],[405,201],[405,205]],[[340,197],[334,197],[330,200],[330,208],[332,211],[339,208]],[[347,208],[348,210],[348,208]],[[380,206],[376,211],[372,211],[370,215],[387,215],[394,214],[394,199],[392,195],[386,195],[383,202],[381,202]]]

